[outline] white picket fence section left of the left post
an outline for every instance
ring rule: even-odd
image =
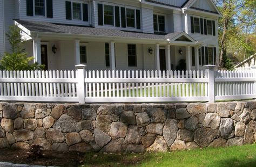
[[[78,101],[74,71],[0,71],[0,100]]]

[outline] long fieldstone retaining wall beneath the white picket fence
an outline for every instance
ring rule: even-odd
[[[191,104],[0,103],[0,148],[135,152],[251,144],[256,101]]]

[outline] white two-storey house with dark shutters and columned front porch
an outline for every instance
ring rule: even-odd
[[[48,70],[203,69],[218,62],[219,17],[212,0],[0,0],[0,53],[15,23]]]

